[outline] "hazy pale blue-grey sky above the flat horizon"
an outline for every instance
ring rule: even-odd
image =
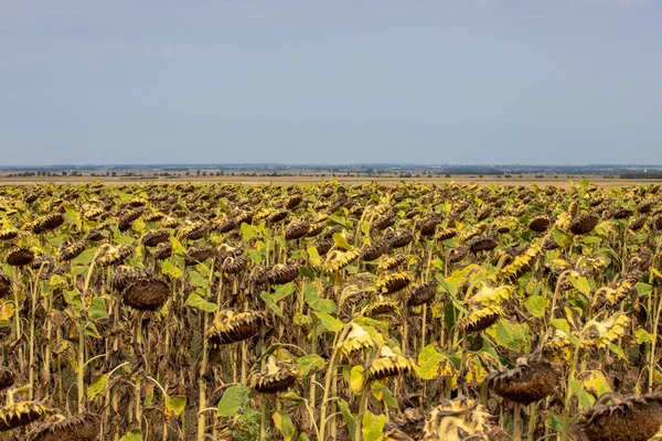
[[[662,0],[0,0],[0,164],[662,163]]]

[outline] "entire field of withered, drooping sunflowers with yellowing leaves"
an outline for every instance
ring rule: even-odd
[[[648,440],[660,185],[0,186],[0,440]]]

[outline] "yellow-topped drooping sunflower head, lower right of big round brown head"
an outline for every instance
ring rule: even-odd
[[[210,342],[224,345],[241,342],[259,333],[267,323],[261,311],[246,311],[237,314],[225,310],[216,313],[214,322],[206,330]]]

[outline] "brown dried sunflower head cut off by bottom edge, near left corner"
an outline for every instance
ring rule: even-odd
[[[54,415],[31,430],[24,441],[94,441],[100,430],[99,418],[92,413]]]

